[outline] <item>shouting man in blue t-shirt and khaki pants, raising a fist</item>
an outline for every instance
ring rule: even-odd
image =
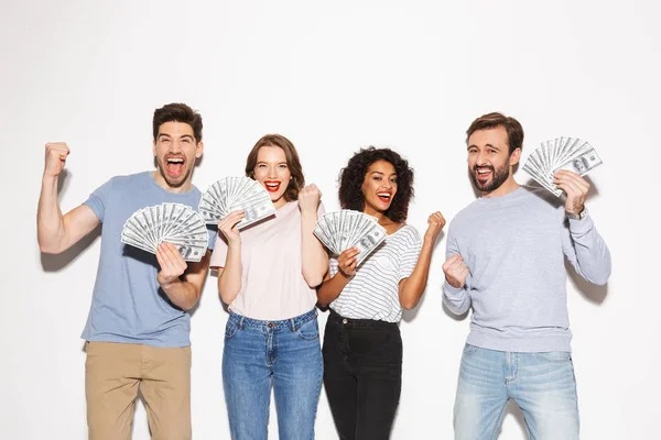
[[[161,243],[152,255],[120,238],[126,220],[139,209],[163,202],[197,208],[201,193],[191,180],[204,148],[202,118],[183,103],[164,106],[154,111],[153,136],[155,170],[113,177],[64,216],[57,180],[69,148],[65,143],[46,144],[37,210],[41,251],[61,253],[102,224],[97,278],[83,331],[93,440],[130,439],[138,391],[147,404],[152,438],[192,437],[186,310],[199,299],[210,251],[201,262],[186,263],[173,244]]]

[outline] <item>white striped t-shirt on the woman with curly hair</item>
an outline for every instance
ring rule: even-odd
[[[399,283],[415,268],[421,248],[420,234],[409,224],[388,235],[358,266],[330,308],[349,319],[399,322]],[[330,258],[330,276],[336,273],[337,260]]]

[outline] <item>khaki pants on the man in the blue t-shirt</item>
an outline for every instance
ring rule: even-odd
[[[152,440],[189,440],[191,348],[87,342],[89,440],[129,440],[138,392]]]

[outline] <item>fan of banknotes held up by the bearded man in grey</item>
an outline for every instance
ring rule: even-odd
[[[563,193],[553,184],[553,175],[560,169],[570,169],[585,176],[602,165],[595,148],[578,138],[556,138],[542,142],[530,154],[523,170],[541,186],[559,196]]]

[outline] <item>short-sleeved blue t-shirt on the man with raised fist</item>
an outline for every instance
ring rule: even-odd
[[[197,210],[201,197],[196,187],[184,194],[167,191],[152,172],[113,177],[89,196],[85,205],[102,224],[101,254],[82,338],[164,348],[191,344],[191,317],[170,302],[156,282],[156,256],[120,240],[124,222],[137,210],[163,202]],[[214,237],[209,232],[209,249]]]

